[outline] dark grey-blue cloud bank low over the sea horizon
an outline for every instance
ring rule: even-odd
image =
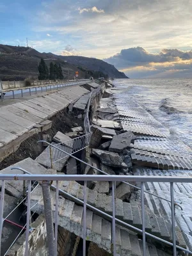
[[[192,76],[192,51],[162,49],[152,53],[142,47],[132,47],[104,61],[133,77],[189,76],[189,70]]]

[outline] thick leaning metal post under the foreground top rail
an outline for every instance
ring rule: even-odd
[[[42,181],[40,182],[42,186],[42,193],[44,198],[44,212],[45,221],[47,229],[47,246],[49,250],[49,256],[54,256],[54,228],[53,228],[53,218],[52,218],[52,207],[51,207],[51,182]]]

